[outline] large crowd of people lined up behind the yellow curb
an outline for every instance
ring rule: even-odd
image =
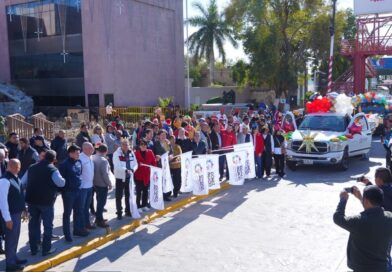
[[[174,189],[164,194],[165,201],[181,194],[180,155],[184,152],[195,156],[225,154],[236,144],[252,142],[257,178],[271,177],[273,160],[276,174],[284,177],[283,134],[291,127],[281,122],[279,112],[239,116],[239,111],[228,115],[221,111],[197,120],[178,113],[165,118],[157,110],[131,133],[119,117],[108,120],[105,129],[96,125],[92,134],[82,123],[74,141],[66,139],[63,130],[53,139],[45,139],[40,128],[34,129],[30,139],[11,132],[8,141],[0,143],[0,253],[6,255],[7,270],[20,270],[26,263],[16,254],[23,218],[29,218],[31,254],[41,251],[46,256],[56,251],[51,241],[59,238],[52,233],[57,196],[61,195],[63,202],[62,228],[67,243],[75,236],[88,236],[96,227],[109,226],[104,212],[113,187],[118,220],[132,216],[131,181],[139,212],[149,211],[149,166],[162,167],[161,156],[167,152]],[[230,178],[225,156],[220,156],[219,173],[221,181]]]

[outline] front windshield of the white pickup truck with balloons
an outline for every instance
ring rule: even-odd
[[[308,115],[305,116],[299,129],[343,132],[346,130],[348,123],[348,118],[344,116]]]

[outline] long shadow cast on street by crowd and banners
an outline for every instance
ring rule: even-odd
[[[115,262],[135,247],[139,247],[141,254],[144,255],[200,216],[223,219],[245,202],[250,192],[261,192],[275,187],[279,180],[278,178],[269,181],[251,180],[247,181],[244,186],[232,186],[227,191],[175,212],[173,216],[164,217],[169,220],[162,224],[151,223],[157,228],[153,233],[148,233],[147,228],[143,228],[124,239],[116,240],[112,244],[96,250],[91,255],[79,258],[74,271],[85,270],[103,258]],[[107,252],[111,252],[111,254],[107,254]]]

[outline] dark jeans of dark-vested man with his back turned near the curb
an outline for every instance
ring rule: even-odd
[[[52,246],[52,232],[54,208],[53,206],[30,205],[29,204],[29,243],[31,252],[38,251],[41,241],[41,219],[44,225],[44,238],[42,241],[42,252],[48,252]]]

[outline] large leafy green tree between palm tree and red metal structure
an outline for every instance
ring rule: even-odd
[[[278,97],[296,90],[297,75],[306,69],[306,60],[324,69],[329,53],[331,7],[322,0],[231,0],[226,18],[235,28],[250,59],[248,80],[267,84]],[[351,24],[354,22],[354,28]],[[335,56],[343,36],[355,35],[355,18],[340,11],[336,18]],[[347,60],[337,57],[336,75],[347,68]],[[334,73],[335,74],[335,73]]]

